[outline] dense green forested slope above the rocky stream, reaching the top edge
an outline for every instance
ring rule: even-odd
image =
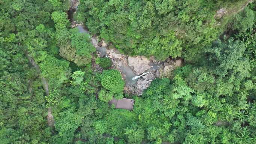
[[[245,3],[246,0],[81,0],[77,19],[129,55],[166,59],[186,50],[186,58],[191,59],[218,37]],[[220,7],[228,11],[221,19],[216,16]]]

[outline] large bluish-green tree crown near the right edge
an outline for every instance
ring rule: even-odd
[[[243,43],[229,39],[227,42],[218,41],[216,46],[205,51],[211,67],[215,69],[213,73],[217,76],[223,77],[239,72],[242,77],[248,77],[249,67],[246,67],[246,64],[249,60],[243,58],[245,49]]]

